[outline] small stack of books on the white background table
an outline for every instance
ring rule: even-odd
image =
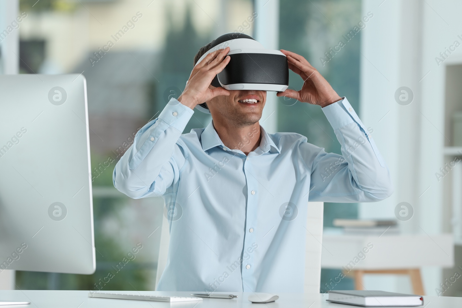
[[[345,234],[353,235],[391,235],[399,234],[396,220],[376,219],[334,219],[335,227],[342,227]]]

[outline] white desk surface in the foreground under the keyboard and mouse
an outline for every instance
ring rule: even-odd
[[[107,291],[121,292],[121,291]],[[155,291],[140,291],[131,292],[123,291],[131,294],[154,294],[154,295],[169,295],[169,296],[189,296],[193,292],[155,292]],[[202,302],[183,302],[183,303],[166,303],[166,302],[144,302],[144,301],[129,301],[116,300],[105,298],[89,298],[88,291],[56,291],[56,290],[2,290],[0,291],[0,300],[6,301],[28,301],[30,305],[8,306],[16,308],[88,308],[88,307],[184,307],[184,308],[200,308],[200,307],[253,307],[253,308],[320,308],[320,307],[357,307],[347,306],[342,304],[334,304],[326,302],[327,294],[303,294],[303,293],[280,293],[280,297],[276,302],[263,304],[252,304],[247,300],[251,293],[231,292],[238,297],[235,299],[216,299],[204,298]],[[426,307],[431,302],[429,308],[449,308],[462,307],[462,297],[449,296],[424,296],[424,306]]]

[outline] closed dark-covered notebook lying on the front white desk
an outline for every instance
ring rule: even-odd
[[[330,291],[328,302],[363,307],[422,306],[424,298],[420,295],[401,294],[385,291],[346,290]]]

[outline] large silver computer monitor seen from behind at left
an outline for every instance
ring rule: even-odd
[[[85,77],[0,75],[0,272],[95,264]]]

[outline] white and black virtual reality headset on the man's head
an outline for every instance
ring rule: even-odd
[[[223,71],[215,75],[211,85],[226,90],[286,91],[289,86],[287,57],[279,50],[265,49],[251,36],[243,33],[226,33],[212,42],[212,46],[197,61],[199,64],[207,54],[230,47],[230,61]],[[206,103],[196,106],[210,114]]]

